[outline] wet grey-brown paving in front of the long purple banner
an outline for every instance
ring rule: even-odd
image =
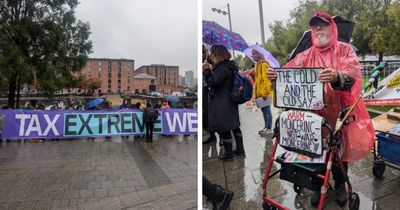
[[[196,208],[194,136],[0,144],[0,209]]]

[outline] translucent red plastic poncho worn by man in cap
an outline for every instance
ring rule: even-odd
[[[314,46],[315,30],[311,31],[313,46],[298,54],[285,67],[324,67],[333,68],[351,77],[355,83],[351,91],[334,90],[330,84],[325,84],[325,108],[316,111],[324,117],[332,128],[335,128],[338,114],[351,106],[362,91],[361,66],[351,45],[338,42],[338,32],[333,18],[332,38],[325,48]],[[367,155],[375,138],[374,128],[368,115],[363,99],[355,107],[353,113],[356,120],[342,128],[341,154],[342,160],[352,162]]]

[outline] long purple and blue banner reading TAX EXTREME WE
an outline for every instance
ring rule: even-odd
[[[197,134],[196,109],[159,109],[154,133]],[[121,110],[0,110],[3,139],[79,138],[146,133],[143,112]]]

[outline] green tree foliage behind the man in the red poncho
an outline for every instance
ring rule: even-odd
[[[296,47],[308,21],[316,11],[338,15],[356,23],[352,44],[360,55],[400,54],[400,6],[399,0],[320,0],[301,1],[290,13],[290,21],[276,21],[271,24],[272,37],[264,44],[281,64],[287,62],[289,54]]]

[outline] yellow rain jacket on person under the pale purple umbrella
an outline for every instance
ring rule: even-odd
[[[259,61],[256,66],[256,76],[254,81],[254,95],[259,97],[272,97],[271,81],[267,77],[269,65],[266,61]]]

